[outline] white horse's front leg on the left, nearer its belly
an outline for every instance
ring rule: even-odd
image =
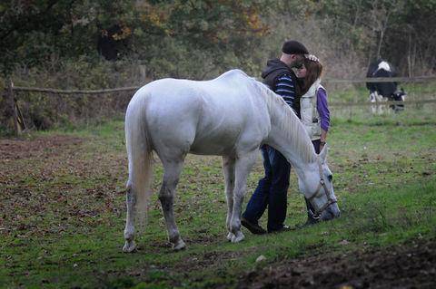
[[[232,241],[233,233],[230,222],[233,212],[233,189],[234,189],[234,159],[231,157],[223,157],[223,175],[225,182],[225,197],[227,200],[227,218],[225,226],[228,230],[227,239]]]

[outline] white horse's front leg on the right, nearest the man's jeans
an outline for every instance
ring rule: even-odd
[[[230,229],[233,233],[232,242],[241,242],[244,238],[241,231],[241,212],[243,196],[247,187],[247,178],[257,156],[257,150],[240,156],[235,163],[235,181],[233,189],[233,212],[230,221]]]

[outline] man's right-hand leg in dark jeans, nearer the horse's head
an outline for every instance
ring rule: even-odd
[[[291,164],[276,149],[268,150],[271,162],[271,187],[268,196],[268,232],[281,230],[287,209]]]

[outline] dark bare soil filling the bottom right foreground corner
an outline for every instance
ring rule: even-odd
[[[237,288],[436,288],[436,240],[269,265]]]

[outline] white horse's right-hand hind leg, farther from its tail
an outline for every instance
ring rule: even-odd
[[[175,225],[173,202],[175,187],[179,181],[180,173],[183,168],[183,159],[165,161],[163,160],[163,183],[159,193],[159,200],[162,204],[163,216],[165,217],[168,238],[173,244],[174,250],[181,250],[186,245],[179,234],[179,229]]]

